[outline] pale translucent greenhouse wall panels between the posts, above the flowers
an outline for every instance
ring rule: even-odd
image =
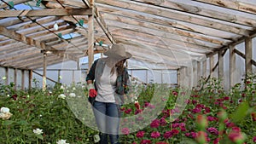
[[[252,49],[252,59],[256,61],[256,38],[253,39],[253,49]],[[245,43],[239,43],[236,44],[235,49],[240,51],[242,54],[245,54]],[[95,55],[95,60],[99,58],[100,55]],[[234,71],[234,77],[232,78],[233,84],[241,83],[241,79],[245,77],[246,69],[245,69],[245,59],[241,57],[241,55],[235,54],[236,57],[236,69]],[[198,77],[203,76],[204,78],[209,77],[211,74],[211,77],[218,78],[218,65],[214,69],[213,72],[211,72],[211,60],[213,60],[213,66],[217,65],[218,63],[218,54],[213,55],[212,57],[208,57],[206,60],[207,67],[206,72],[203,72],[203,61],[194,61],[193,62],[193,68],[198,68],[198,64],[200,63],[200,70],[196,70],[191,77]],[[79,63],[86,63],[88,61],[80,60]],[[256,66],[253,67],[253,72],[256,72]],[[80,70],[82,68],[82,70]],[[129,68],[129,67],[128,67]],[[7,70],[8,69],[8,70]],[[86,68],[85,68],[86,69]],[[58,65],[48,66],[46,76],[47,79],[46,84],[48,85],[54,85],[55,82],[60,82],[62,84],[72,84],[72,83],[85,83],[85,77],[86,77],[86,70],[83,70],[82,65],[79,66],[77,62],[74,61],[67,61],[63,62]],[[6,75],[6,72],[8,74]],[[23,87],[26,89],[29,87],[29,71],[28,70],[16,70],[16,87],[17,89],[22,88],[22,72],[24,75],[24,84]],[[177,84],[177,71],[176,70],[143,70],[143,69],[129,69],[129,74],[135,78],[138,78],[140,82],[149,84]],[[194,70],[193,70],[194,72]],[[39,73],[39,75],[37,74]],[[40,76],[41,75],[41,76]],[[41,70],[35,70],[35,72],[32,73],[32,79],[36,79],[36,84],[32,83],[32,87],[38,86],[42,87],[42,75],[43,75],[43,69]],[[3,80],[4,77],[7,77],[6,80]],[[61,78],[59,78],[61,76]],[[11,82],[15,82],[15,69],[14,68],[6,68],[6,67],[0,67],[0,81],[2,84],[9,84]],[[196,79],[196,78],[195,78]],[[54,81],[54,82],[53,82]],[[8,82],[8,83],[6,83]],[[227,51],[224,54],[224,89],[228,90],[230,89],[230,49],[227,49]],[[198,79],[196,79],[195,82],[193,82],[194,86],[198,83]]]

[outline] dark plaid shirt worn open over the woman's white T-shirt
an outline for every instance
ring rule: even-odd
[[[103,68],[106,65],[105,60],[102,59],[97,59],[94,61],[94,63],[92,64],[92,66],[90,67],[90,71],[86,77],[86,81],[88,80],[95,80],[95,88],[96,88],[96,83],[97,83],[97,79],[101,78],[102,73],[103,73]],[[128,93],[129,91],[129,86],[130,86],[130,79],[129,79],[129,74],[127,72],[127,69],[125,68],[125,70],[123,71],[122,74],[118,75],[117,79],[116,79],[116,95],[115,97],[115,101],[118,104],[123,104],[124,103],[124,95]],[[97,90],[97,88],[96,88]]]

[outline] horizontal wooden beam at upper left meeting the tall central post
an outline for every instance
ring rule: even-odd
[[[32,16],[61,16],[61,15],[90,15],[92,9],[34,9],[34,10],[0,10],[2,17],[32,17]]]

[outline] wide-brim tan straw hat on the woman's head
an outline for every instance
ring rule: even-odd
[[[111,49],[108,49],[104,55],[111,57],[113,59],[129,59],[131,58],[131,54],[125,51],[125,46],[122,43],[113,44]]]

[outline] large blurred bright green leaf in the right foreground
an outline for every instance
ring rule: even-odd
[[[249,105],[247,101],[244,101],[240,104],[240,106],[236,109],[236,112],[232,114],[232,122],[237,123],[246,117],[247,111],[249,109]]]

